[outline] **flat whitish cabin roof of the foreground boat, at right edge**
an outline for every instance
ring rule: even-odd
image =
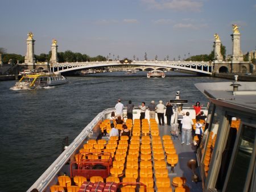
[[[237,82],[238,91],[233,91],[233,82],[213,82],[195,84],[208,98],[256,111],[256,82]]]

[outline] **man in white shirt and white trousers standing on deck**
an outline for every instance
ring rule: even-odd
[[[189,117],[189,112],[186,112],[186,115],[181,120],[182,123],[182,136],[181,136],[181,144],[186,143],[187,145],[190,145],[190,137],[191,137],[191,131],[193,126],[193,120]]]

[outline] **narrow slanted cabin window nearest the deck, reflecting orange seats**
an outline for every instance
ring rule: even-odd
[[[222,116],[221,114],[221,109],[216,107],[216,110],[214,110],[213,115],[213,120],[211,126],[204,131],[204,137],[205,139],[205,147],[203,149],[204,152],[204,159],[203,159],[203,167],[204,167],[204,173],[205,177],[208,176],[208,171],[209,171],[209,166],[210,166],[210,161],[212,160],[212,155],[214,152],[214,147],[215,147],[215,142],[217,139],[217,132],[218,132],[218,126],[220,124],[220,117]]]

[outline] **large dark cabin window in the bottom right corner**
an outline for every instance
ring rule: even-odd
[[[250,176],[249,180],[246,180],[246,178],[248,174],[251,174],[253,168],[250,170],[250,165],[254,165],[255,161],[255,152],[253,151],[255,137],[255,127],[242,126],[241,136],[225,191],[244,191],[246,182],[250,183]]]

